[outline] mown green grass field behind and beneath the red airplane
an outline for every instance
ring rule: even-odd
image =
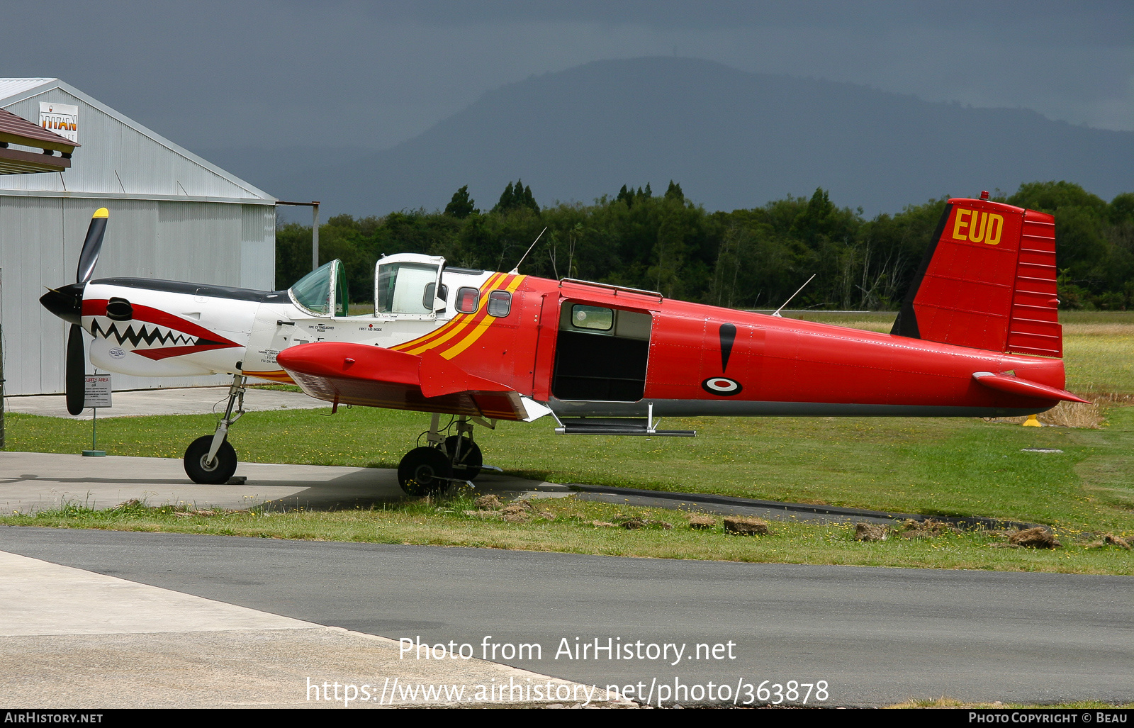
[[[892,321],[892,314],[807,318],[886,330]],[[697,430],[695,439],[646,439],[556,435],[552,423],[540,421],[499,423],[494,432],[477,431],[477,439],[486,462],[510,474],[553,482],[925,515],[992,516],[1049,524],[1072,537],[1102,532],[1129,536],[1134,534],[1134,407],[1120,405],[1134,396],[1134,313],[1072,313],[1064,323],[1068,388],[1101,398],[1105,420],[1097,429],[1021,428],[973,418],[689,418],[667,420],[666,426]],[[99,440],[113,455],[180,457],[186,443],[211,432],[214,423],[210,415],[107,418],[100,420]],[[418,413],[370,408],[340,408],[335,416],[304,410],[249,413],[234,429],[231,442],[246,462],[396,467],[426,425],[426,416]],[[77,452],[88,447],[88,422],[8,415],[10,450]],[[1024,452],[1023,448],[1060,449],[1063,454]],[[485,528],[480,523],[460,527],[477,532]],[[492,528],[513,526],[500,524]],[[399,533],[391,537],[418,542],[408,532]],[[665,537],[671,540],[672,533]],[[454,542],[467,543],[475,537],[454,536]],[[568,545],[573,541],[564,534],[549,532],[543,537],[561,541],[558,550],[607,552],[593,543]],[[501,544],[518,543],[519,539],[527,544],[519,548],[536,548],[528,536],[496,534],[492,539],[501,539]],[[809,539],[813,540],[801,531],[789,540],[803,543]],[[750,553],[752,541],[746,543],[750,545],[744,549]],[[863,557],[864,547],[850,547],[858,555],[855,558]],[[926,562],[926,555],[941,553],[940,548],[924,547],[925,553],[907,558],[886,543],[877,547],[896,559],[892,565],[911,559]],[[962,547],[964,543],[958,542],[957,548],[965,550]],[[843,548],[822,550],[812,543],[804,550],[814,558],[826,553],[822,558],[827,560],[819,562],[847,562],[837,553]],[[921,553],[917,549],[922,547],[909,548],[914,549],[911,553]],[[691,558],[737,558],[725,547],[708,551],[683,549]],[[635,555],[660,556],[663,551],[646,549]],[[767,550],[760,553],[761,560],[802,558],[787,551],[778,556],[769,556]],[[1064,551],[1059,558],[1081,570],[1126,573],[1112,566],[1090,566],[1100,558],[1111,558],[1097,551],[1084,551],[1082,564],[1067,556]],[[1033,557],[1055,555],[1025,558]],[[1012,561],[1016,557],[1002,558]],[[1128,552],[1112,558],[1127,565],[1132,561]],[[993,561],[1001,564],[1000,559],[997,556]],[[931,561],[955,567],[966,562]],[[1008,566],[1008,561],[978,566],[985,562],[978,559],[972,565],[1019,568],[1018,564]],[[1056,566],[1052,562],[1041,568]]]

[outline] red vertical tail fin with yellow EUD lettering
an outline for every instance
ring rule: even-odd
[[[1055,218],[950,200],[890,333],[991,352],[1063,356]]]

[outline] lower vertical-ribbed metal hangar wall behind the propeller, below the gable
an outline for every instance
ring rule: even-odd
[[[64,390],[66,324],[40,306],[39,298],[45,286],[75,280],[86,228],[98,206],[110,210],[110,220],[95,278],[162,278],[272,288],[272,208],[0,195],[7,395]],[[254,231],[259,231],[260,239],[246,239]],[[118,374],[115,389],[195,387],[225,380]]]

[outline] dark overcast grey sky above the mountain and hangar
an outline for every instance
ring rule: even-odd
[[[59,77],[191,149],[378,150],[483,92],[685,56],[1134,130],[1134,2],[26,2],[0,76]]]

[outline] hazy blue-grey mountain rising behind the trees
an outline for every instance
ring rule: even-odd
[[[663,192],[674,179],[710,210],[824,187],[870,214],[1032,180],[1067,179],[1108,200],[1134,191],[1132,132],[686,58],[531,77],[392,149],[322,168],[295,160],[269,179],[245,161],[249,181],[272,194],[358,215],[443,208],[463,185],[491,208],[517,177],[543,205],[590,203],[624,184]]]

